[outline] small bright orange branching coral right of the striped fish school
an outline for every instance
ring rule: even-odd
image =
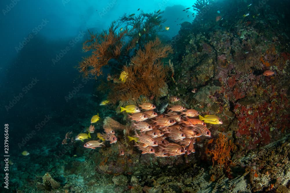
[[[235,145],[228,140],[228,138],[222,133],[219,134],[219,138],[216,140],[216,146],[213,152],[213,164],[215,161],[218,162],[220,168],[224,166],[228,168],[228,159],[230,152],[235,148]]]

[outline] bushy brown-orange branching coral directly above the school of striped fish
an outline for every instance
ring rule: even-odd
[[[120,100],[137,100],[140,95],[158,96],[160,89],[166,84],[170,69],[161,59],[166,58],[170,52],[171,46],[162,45],[159,38],[145,44],[144,49],[139,49],[136,56],[133,56],[131,64],[124,67],[128,74],[127,80],[115,85],[114,95],[110,98],[117,96]]]

